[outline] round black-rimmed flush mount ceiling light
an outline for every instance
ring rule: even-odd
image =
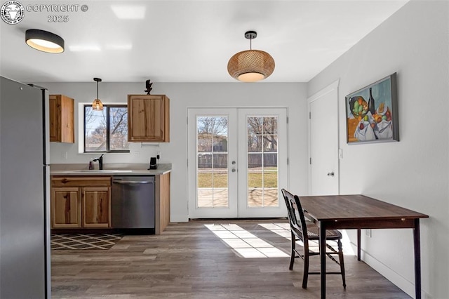
[[[64,39],[48,31],[28,29],[25,32],[25,41],[28,46],[46,53],[64,52]]]

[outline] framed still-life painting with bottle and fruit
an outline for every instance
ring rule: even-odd
[[[396,73],[345,97],[348,144],[399,141]]]

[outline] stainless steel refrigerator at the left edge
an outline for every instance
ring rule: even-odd
[[[0,298],[50,298],[48,91],[0,80]]]

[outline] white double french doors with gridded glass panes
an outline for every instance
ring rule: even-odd
[[[189,218],[283,217],[284,108],[188,111]]]

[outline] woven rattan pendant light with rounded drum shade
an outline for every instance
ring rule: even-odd
[[[269,77],[274,71],[274,59],[267,52],[253,50],[251,41],[257,37],[257,32],[248,31],[245,37],[250,40],[250,50],[234,54],[227,62],[227,71],[231,77],[243,82]]]

